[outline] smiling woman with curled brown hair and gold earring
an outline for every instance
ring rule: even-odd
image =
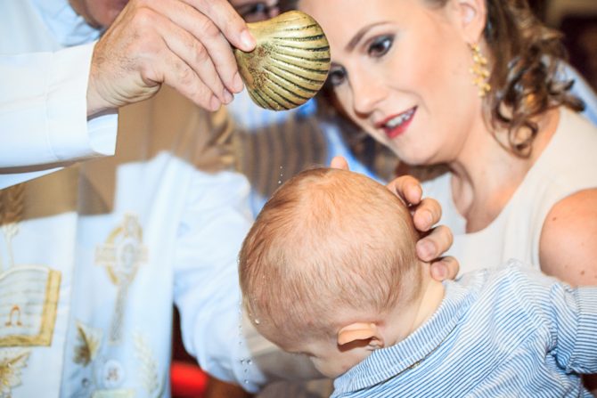
[[[300,0],[341,110],[429,182],[463,272],[517,257],[597,283],[597,131],[558,81],[560,37],[520,0]]]

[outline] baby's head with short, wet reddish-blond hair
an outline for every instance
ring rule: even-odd
[[[427,278],[417,239],[408,209],[380,183],[307,170],[275,191],[242,245],[244,305],[267,339],[337,377],[404,337]]]

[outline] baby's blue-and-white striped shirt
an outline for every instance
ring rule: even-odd
[[[446,282],[438,311],[334,382],[332,397],[591,397],[597,288],[570,288],[511,261]]]

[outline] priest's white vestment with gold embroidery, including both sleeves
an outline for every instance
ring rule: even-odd
[[[117,117],[86,120],[99,32],[66,0],[0,9],[0,396],[168,396],[173,299],[201,367],[256,390],[225,112],[163,88],[120,110],[115,156],[61,168],[114,151]]]

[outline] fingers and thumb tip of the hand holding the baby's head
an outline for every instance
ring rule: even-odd
[[[348,170],[348,162],[337,156],[331,159],[330,167]],[[458,261],[451,256],[442,257],[452,246],[452,231],[444,225],[434,228],[442,216],[438,201],[423,199],[421,183],[410,175],[397,177],[387,187],[411,208],[414,227],[422,234],[417,242],[417,256],[431,264],[431,276],[436,280],[454,279],[460,269]]]

